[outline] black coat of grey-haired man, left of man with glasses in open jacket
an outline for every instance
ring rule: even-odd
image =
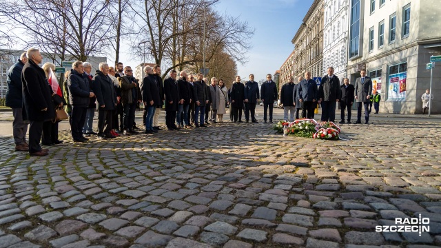
[[[92,85],[99,110],[114,110],[116,105],[115,87],[109,76],[97,70]],[[104,105],[104,107],[101,107]]]

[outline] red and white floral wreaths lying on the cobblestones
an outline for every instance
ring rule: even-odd
[[[340,139],[339,134],[342,132],[341,128],[332,121],[318,123],[314,119],[307,118],[298,119],[292,122],[279,121],[274,125],[274,130],[283,135],[327,139],[332,141]]]

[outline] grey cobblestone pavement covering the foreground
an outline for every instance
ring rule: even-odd
[[[440,127],[316,141],[222,123],[81,145],[63,131],[41,158],[0,138],[0,248],[437,247]],[[419,214],[421,236],[375,231]]]

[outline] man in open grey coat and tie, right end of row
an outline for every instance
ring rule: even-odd
[[[361,108],[365,106],[365,124],[369,124],[369,103],[371,102],[372,94],[372,81],[371,78],[366,76],[366,70],[362,69],[360,72],[361,77],[356,79],[355,87],[355,99],[357,100],[357,122],[361,123]]]

